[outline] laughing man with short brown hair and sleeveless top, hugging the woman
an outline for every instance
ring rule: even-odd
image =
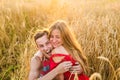
[[[48,32],[41,31],[38,32],[34,36],[35,42],[37,44],[38,52],[32,57],[30,64],[30,73],[29,80],[52,80],[58,74],[69,71],[72,67],[72,63],[70,61],[63,62],[59,64],[55,69],[49,71],[49,57],[52,51],[52,45],[49,42]],[[41,71],[43,69],[43,71]],[[82,69],[79,66],[73,67],[73,69],[78,71],[78,73],[82,72]],[[41,77],[40,77],[40,71]]]

